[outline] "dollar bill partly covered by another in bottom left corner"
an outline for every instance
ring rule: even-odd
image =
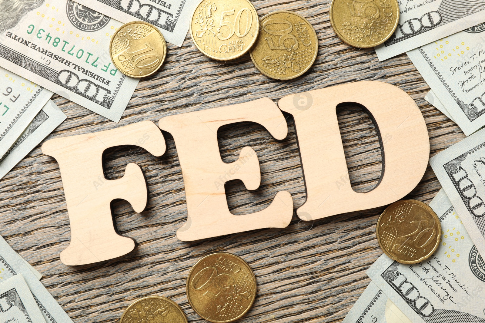
[[[21,274],[31,290],[46,323],[73,323],[56,300],[35,277],[25,261],[0,236],[0,286],[10,277]]]

